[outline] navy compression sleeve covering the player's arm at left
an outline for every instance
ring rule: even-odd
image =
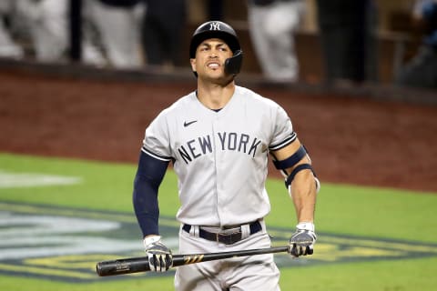
[[[134,181],[133,204],[143,237],[158,235],[158,188],[166,174],[168,161],[149,156],[143,151],[139,156]]]

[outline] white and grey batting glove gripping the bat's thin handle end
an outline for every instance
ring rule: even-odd
[[[296,257],[312,255],[316,239],[317,236],[314,233],[314,224],[309,222],[298,224],[296,231],[290,238],[290,255]]]

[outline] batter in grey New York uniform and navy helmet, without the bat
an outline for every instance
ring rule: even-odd
[[[158,231],[158,187],[168,164],[178,175],[181,254],[270,247],[264,217],[268,158],[286,176],[299,224],[292,256],[311,255],[320,183],[283,108],[235,84],[242,63],[239,38],[219,21],[198,26],[189,47],[197,90],[148,125],[134,182],[133,203],[150,269],[167,271],[172,252]],[[177,290],[279,290],[273,255],[180,266]]]

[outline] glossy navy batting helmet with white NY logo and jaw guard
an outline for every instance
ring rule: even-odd
[[[229,48],[234,55],[226,60],[225,71],[228,74],[239,74],[239,69],[241,68],[243,60],[243,53],[239,45],[239,37],[230,25],[221,21],[208,21],[198,26],[189,44],[189,58],[196,57],[198,45],[208,38],[219,38],[229,45]]]

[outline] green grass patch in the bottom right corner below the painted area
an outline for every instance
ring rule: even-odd
[[[435,290],[437,258],[301,267],[281,271],[285,290]],[[286,279],[285,279],[286,278]],[[284,284],[282,285],[284,286]]]

